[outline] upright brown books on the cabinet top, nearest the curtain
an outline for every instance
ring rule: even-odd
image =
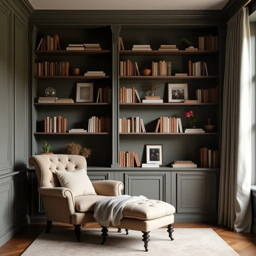
[[[219,151],[207,147],[200,148],[200,166],[204,168],[219,167]]]

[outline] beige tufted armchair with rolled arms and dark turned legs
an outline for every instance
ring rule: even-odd
[[[46,233],[52,221],[73,224],[77,240],[80,240],[81,224],[94,222],[94,206],[106,196],[121,195],[123,183],[115,180],[92,182],[97,195],[73,197],[72,191],[61,187],[56,170],[73,172],[87,170],[86,159],[79,155],[35,155],[29,158],[35,167],[38,180],[38,193],[41,195],[47,217]]]

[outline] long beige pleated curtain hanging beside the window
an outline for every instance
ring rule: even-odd
[[[229,21],[223,86],[218,222],[251,228],[251,43],[248,8]]]

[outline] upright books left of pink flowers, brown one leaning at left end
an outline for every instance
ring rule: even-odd
[[[178,133],[182,131],[182,124],[180,118],[161,116],[156,124],[155,132],[163,133]]]

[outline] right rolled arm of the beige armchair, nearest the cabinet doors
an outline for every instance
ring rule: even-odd
[[[96,194],[100,196],[120,196],[124,189],[124,184],[116,180],[93,181],[92,186]]]

